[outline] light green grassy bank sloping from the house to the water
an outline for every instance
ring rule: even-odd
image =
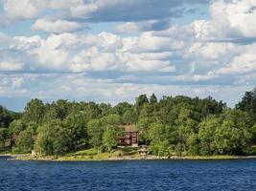
[[[15,155],[13,159],[18,160],[56,160],[56,161],[100,161],[100,160],[134,160],[134,159],[256,159],[256,156],[183,156],[183,157],[157,157],[149,155],[143,158],[137,152],[136,148],[116,149],[112,153],[98,153],[95,149],[81,150],[75,153],[70,153],[65,156],[32,156]]]

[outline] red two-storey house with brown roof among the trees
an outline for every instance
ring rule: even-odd
[[[139,133],[135,125],[121,125],[120,128],[125,130],[122,137],[119,137],[120,146],[138,147]]]

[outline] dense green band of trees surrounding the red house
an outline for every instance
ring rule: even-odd
[[[64,155],[86,148],[111,152],[123,132],[135,124],[139,141],[152,155],[255,155],[256,89],[246,92],[234,109],[212,97],[141,95],[134,104],[115,106],[32,99],[24,113],[0,107],[0,149],[35,150]]]

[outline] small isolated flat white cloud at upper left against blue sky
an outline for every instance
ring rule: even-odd
[[[32,26],[32,30],[49,32],[49,33],[62,33],[62,32],[77,32],[86,28],[84,24],[79,24],[73,21],[56,20],[51,21],[48,19],[37,19]]]

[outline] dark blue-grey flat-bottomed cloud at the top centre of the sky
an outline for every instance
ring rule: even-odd
[[[96,0],[72,7],[72,16],[92,22],[99,21],[142,21],[179,17],[185,5],[207,4],[208,0]]]

